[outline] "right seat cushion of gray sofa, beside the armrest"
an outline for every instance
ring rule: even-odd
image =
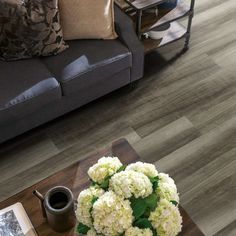
[[[89,89],[132,65],[131,53],[118,40],[71,41],[62,54],[42,60],[61,83],[64,95]]]

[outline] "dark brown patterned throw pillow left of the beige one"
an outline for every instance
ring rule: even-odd
[[[0,59],[56,55],[67,47],[58,0],[0,0]]]

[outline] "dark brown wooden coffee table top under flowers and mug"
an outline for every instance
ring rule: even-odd
[[[113,142],[109,147],[97,151],[93,155],[78,161],[76,164],[59,171],[58,173],[40,181],[32,187],[29,187],[1,202],[0,209],[16,202],[21,202],[39,236],[76,235],[76,233],[74,233],[74,229],[71,229],[69,232],[63,234],[52,231],[42,216],[38,199],[33,196],[32,192],[33,190],[37,189],[39,192],[45,194],[48,189],[57,185],[63,185],[70,188],[73,191],[75,197],[77,197],[80,191],[89,185],[87,176],[88,168],[97,162],[97,160],[102,156],[118,156],[124,164],[136,162],[140,159],[130,144],[125,139],[120,139]],[[181,215],[183,216],[183,231],[180,235],[204,235],[182,207],[180,207],[180,210]]]

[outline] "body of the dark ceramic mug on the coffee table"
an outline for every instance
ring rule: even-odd
[[[63,186],[50,189],[43,206],[48,224],[56,232],[65,232],[75,225],[74,196],[70,189]]]

